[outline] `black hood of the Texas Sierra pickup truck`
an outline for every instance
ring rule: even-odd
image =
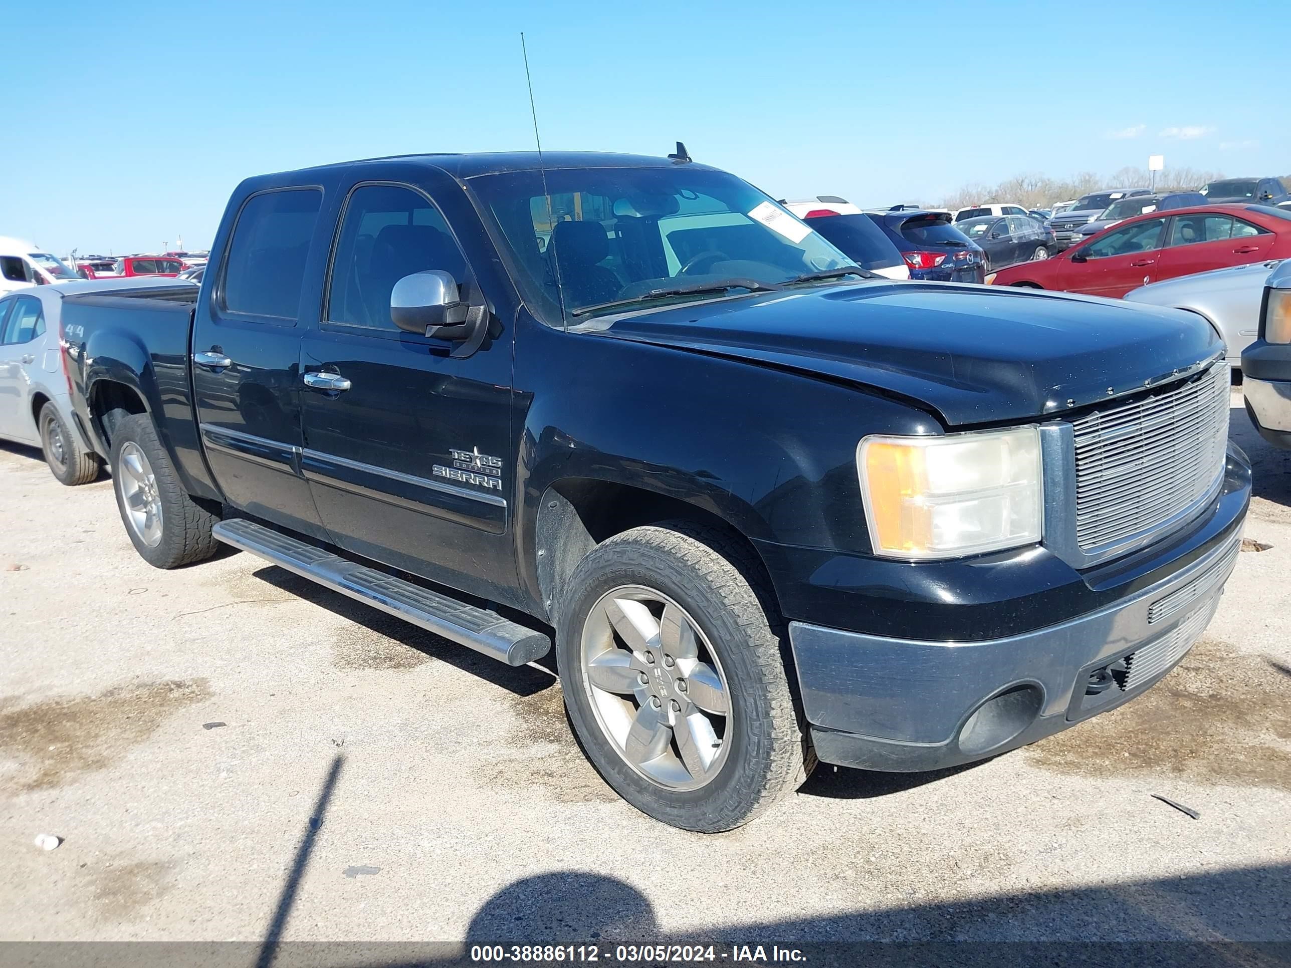
[[[942,283],[758,293],[593,319],[578,329],[899,394],[949,426],[1060,413],[1140,390],[1223,350],[1190,312]]]

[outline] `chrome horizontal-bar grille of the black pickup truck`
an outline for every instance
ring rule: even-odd
[[[1074,421],[1081,549],[1159,528],[1208,497],[1224,472],[1228,407],[1221,360],[1195,379]]]

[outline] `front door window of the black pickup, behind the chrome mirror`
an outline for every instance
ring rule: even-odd
[[[390,290],[404,276],[443,270],[462,285],[466,258],[426,196],[396,185],[363,185],[350,194],[332,257],[324,318],[398,329]]]

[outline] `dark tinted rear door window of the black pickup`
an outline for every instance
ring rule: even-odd
[[[318,188],[280,188],[247,199],[225,257],[222,310],[296,320],[321,203]]]

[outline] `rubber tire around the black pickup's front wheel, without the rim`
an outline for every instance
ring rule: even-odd
[[[593,709],[582,634],[596,603],[621,586],[661,591],[686,609],[726,675],[728,749],[698,789],[667,789],[639,773]],[[760,563],[718,528],[686,521],[633,528],[593,549],[567,585],[556,648],[571,723],[605,782],[651,817],[702,832],[747,823],[794,790],[815,758],[804,747],[778,626]]]

